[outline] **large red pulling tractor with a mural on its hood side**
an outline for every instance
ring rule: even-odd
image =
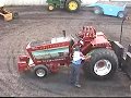
[[[19,57],[19,71],[31,71],[38,77],[56,73],[60,65],[70,65],[73,47],[81,46],[84,56],[90,54],[90,61],[83,62],[85,74],[96,78],[111,77],[118,68],[118,58],[111,42],[102,32],[92,26],[84,26],[75,38],[59,37],[50,41],[33,41],[26,46],[27,56]]]

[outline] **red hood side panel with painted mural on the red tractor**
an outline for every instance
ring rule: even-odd
[[[35,65],[37,64],[50,64],[50,63],[61,63],[67,61],[67,54],[69,52],[70,41],[55,42],[55,44],[41,44],[31,47],[31,44],[27,45],[26,50],[29,53]],[[59,52],[60,50],[60,52]],[[56,54],[57,53],[57,54]],[[37,59],[34,57],[38,56]],[[61,58],[56,58],[56,56],[61,56]],[[53,58],[51,58],[51,57]],[[46,59],[45,59],[46,58]]]

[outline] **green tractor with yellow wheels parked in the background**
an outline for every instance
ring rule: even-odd
[[[47,0],[46,2],[49,11],[60,8],[69,12],[76,12],[81,7],[81,0]]]

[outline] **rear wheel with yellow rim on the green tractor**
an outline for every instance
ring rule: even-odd
[[[67,0],[66,1],[66,10],[69,12],[76,12],[80,10],[81,2],[80,0]]]

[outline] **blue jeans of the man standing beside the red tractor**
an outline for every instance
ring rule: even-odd
[[[80,83],[80,73],[81,73],[81,64],[71,64],[71,83],[79,84]]]

